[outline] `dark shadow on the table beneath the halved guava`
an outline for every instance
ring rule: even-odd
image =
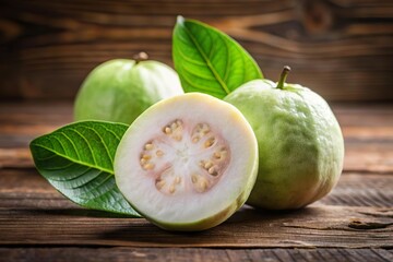
[[[250,236],[264,235],[269,238],[269,235],[277,227],[282,227],[285,222],[317,213],[318,210],[313,209],[272,212],[245,206],[223,224],[204,231],[167,231],[145,221],[145,223],[130,222],[127,227],[103,233],[100,238],[141,247],[217,247],[217,243],[218,247],[247,246]]]

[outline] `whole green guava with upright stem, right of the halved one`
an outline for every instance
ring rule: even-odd
[[[298,84],[254,80],[227,95],[255,132],[259,174],[248,204],[270,210],[303,207],[336,184],[344,140],[326,102]]]

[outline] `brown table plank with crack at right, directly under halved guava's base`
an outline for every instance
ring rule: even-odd
[[[169,233],[143,218],[99,212],[0,209],[0,245],[391,249],[392,224],[392,209],[311,205],[272,213],[243,207],[210,230]]]

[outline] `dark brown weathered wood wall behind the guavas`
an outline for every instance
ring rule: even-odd
[[[171,64],[176,15],[240,41],[330,100],[393,100],[392,0],[0,0],[0,99],[72,99],[90,70],[144,50]]]

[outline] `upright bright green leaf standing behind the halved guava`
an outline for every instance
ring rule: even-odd
[[[252,57],[212,26],[178,16],[172,38],[174,63],[186,92],[224,98],[241,84],[263,78]]]

